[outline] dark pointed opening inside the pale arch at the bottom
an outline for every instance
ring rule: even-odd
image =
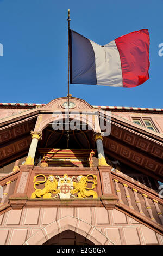
[[[72,231],[66,230],[47,240],[43,245],[95,245],[86,237]]]

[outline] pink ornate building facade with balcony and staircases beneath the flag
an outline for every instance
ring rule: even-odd
[[[0,108],[1,245],[163,245],[163,109]]]

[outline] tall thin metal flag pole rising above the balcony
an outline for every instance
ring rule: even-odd
[[[67,119],[68,119],[68,130],[67,130],[67,148],[68,148],[68,144],[69,144],[69,139],[70,139],[70,134],[69,134],[69,116],[70,116],[70,112],[69,112],[69,87],[70,87],[70,42],[69,42],[69,29],[70,29],[70,9],[68,9],[68,111],[67,111]]]

